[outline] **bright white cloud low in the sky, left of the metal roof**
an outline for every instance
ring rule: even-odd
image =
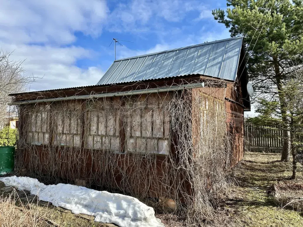
[[[77,59],[94,56],[92,51],[81,47],[51,47],[26,44],[4,44],[3,49],[14,51],[11,58],[25,59],[25,74],[36,79],[31,90],[47,90],[64,87],[75,87],[96,84],[103,72],[98,67],[81,69],[75,66]]]

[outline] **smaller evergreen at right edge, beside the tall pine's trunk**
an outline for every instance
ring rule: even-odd
[[[286,82],[281,94],[284,95],[286,102],[286,119],[288,123],[287,130],[290,135],[290,147],[293,163],[292,179],[296,177],[297,153],[303,151],[303,71],[298,70],[291,74],[291,79]],[[247,123],[255,126],[271,126],[280,128],[281,111],[278,108],[279,102],[276,100],[268,101],[264,98],[258,100],[256,112],[260,113],[258,117],[251,117],[246,120]]]

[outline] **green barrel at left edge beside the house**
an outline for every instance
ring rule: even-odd
[[[14,170],[14,146],[0,146],[0,175]]]

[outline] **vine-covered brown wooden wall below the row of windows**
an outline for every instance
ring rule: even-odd
[[[163,180],[163,173],[172,173],[165,156],[151,155],[138,159],[133,153],[108,155],[100,150],[43,145],[33,145],[19,153],[16,158],[22,160],[16,161],[23,163],[26,175],[51,181],[60,179],[59,182],[63,180],[72,184],[82,180],[87,186],[133,196],[175,197],[172,193],[174,185],[167,185]],[[175,177],[171,176],[171,179]]]

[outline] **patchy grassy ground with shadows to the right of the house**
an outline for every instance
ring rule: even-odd
[[[302,214],[275,205],[275,183],[303,182],[303,166],[298,164],[298,179],[290,180],[292,163],[279,162],[280,158],[276,153],[245,153],[234,170],[235,185],[225,202],[230,215],[228,226],[303,226]]]

